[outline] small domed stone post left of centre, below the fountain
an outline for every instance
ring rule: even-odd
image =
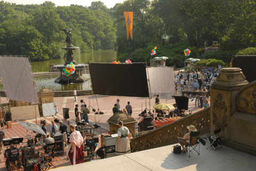
[[[54,93],[50,88],[44,87],[38,92],[38,96],[39,96],[39,104],[38,104],[39,113],[40,113],[40,116],[43,116],[42,104],[53,103]]]

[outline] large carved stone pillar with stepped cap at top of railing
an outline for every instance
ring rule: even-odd
[[[211,134],[221,128],[221,136],[230,139],[230,117],[236,111],[236,96],[247,84],[240,68],[222,68],[211,89]]]

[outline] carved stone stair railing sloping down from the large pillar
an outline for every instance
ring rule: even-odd
[[[153,132],[137,136],[131,140],[131,151],[142,151],[178,142],[188,132],[187,126],[195,125],[201,134],[210,132],[210,108],[157,128]]]

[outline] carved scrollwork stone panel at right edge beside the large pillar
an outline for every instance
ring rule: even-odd
[[[256,81],[244,86],[238,92],[237,110],[256,114]]]

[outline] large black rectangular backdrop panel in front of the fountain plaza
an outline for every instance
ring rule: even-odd
[[[149,97],[145,63],[89,64],[94,94]]]

